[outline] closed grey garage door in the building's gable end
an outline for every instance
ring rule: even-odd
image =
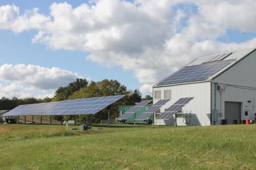
[[[232,124],[233,119],[241,119],[241,103],[240,102],[225,102],[225,119],[227,124]]]

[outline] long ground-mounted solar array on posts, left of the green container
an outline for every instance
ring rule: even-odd
[[[4,116],[95,114],[124,96],[106,96],[19,105],[4,114]]]

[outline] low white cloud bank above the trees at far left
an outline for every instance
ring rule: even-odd
[[[0,80],[31,85],[39,89],[56,89],[81,78],[77,73],[57,67],[45,68],[35,65],[4,64],[0,66]]]

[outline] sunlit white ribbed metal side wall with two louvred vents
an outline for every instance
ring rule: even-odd
[[[183,107],[184,113],[191,111],[191,120],[188,125],[210,125],[210,114],[211,114],[211,83],[200,82],[191,84],[171,85],[164,87],[154,87],[153,92],[161,91],[162,95],[164,90],[171,90],[172,98],[164,106],[161,107],[161,113],[165,109],[169,108],[180,98],[184,97],[195,97],[185,107]],[[158,99],[153,99],[156,103]],[[183,118],[177,119],[178,125],[186,125],[182,122]],[[158,125],[174,125],[174,117],[169,120],[155,120]]]

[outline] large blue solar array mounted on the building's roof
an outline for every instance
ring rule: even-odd
[[[186,66],[179,71],[176,71],[166,79],[162,80],[157,85],[206,80],[232,61],[234,61],[234,59]]]

